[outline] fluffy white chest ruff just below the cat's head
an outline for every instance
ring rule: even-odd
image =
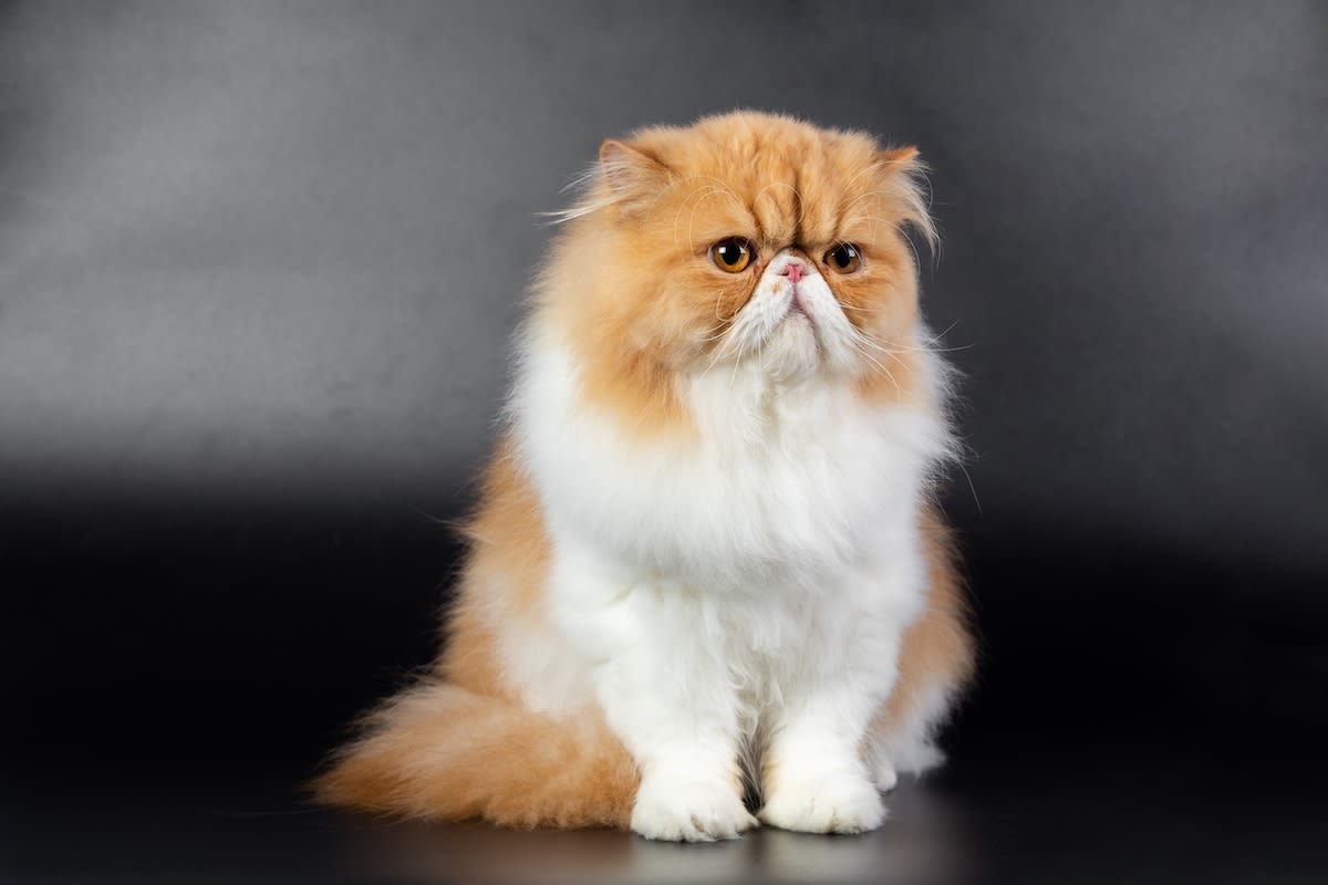
[[[683,580],[806,585],[908,533],[926,456],[907,415],[758,378],[681,393],[684,439],[628,439],[575,406],[530,429],[555,535]]]

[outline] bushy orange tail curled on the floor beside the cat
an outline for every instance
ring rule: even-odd
[[[313,789],[397,817],[625,829],[639,783],[598,714],[560,720],[434,679],[371,714]]]

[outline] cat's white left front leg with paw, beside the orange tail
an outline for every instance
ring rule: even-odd
[[[758,825],[742,804],[737,690],[706,612],[716,601],[584,561],[575,572],[559,620],[592,665],[610,727],[640,766],[632,829],[710,841]]]

